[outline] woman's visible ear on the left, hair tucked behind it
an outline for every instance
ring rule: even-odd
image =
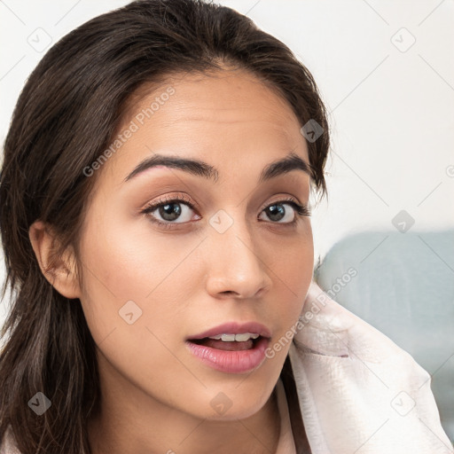
[[[79,298],[81,292],[75,276],[72,248],[63,255],[57,254],[58,240],[51,228],[42,221],[35,221],[30,226],[28,237],[43,275],[51,286],[67,298]]]

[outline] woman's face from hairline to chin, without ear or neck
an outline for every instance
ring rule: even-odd
[[[136,408],[247,418],[278,380],[312,278],[310,220],[293,206],[309,203],[309,175],[297,160],[264,174],[290,153],[309,163],[301,125],[239,70],[168,79],[131,112],[88,176],[82,230],[80,300],[102,387]],[[179,165],[134,172],[158,155]],[[191,341],[215,333],[261,337]]]

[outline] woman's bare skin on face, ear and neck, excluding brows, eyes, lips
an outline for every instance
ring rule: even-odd
[[[275,452],[273,389],[290,344],[253,372],[225,373],[201,363],[184,340],[226,321],[258,321],[270,329],[272,345],[297,321],[314,265],[310,218],[284,205],[278,222],[263,210],[289,196],[309,204],[309,175],[292,170],[257,181],[290,152],[309,162],[301,124],[286,100],[239,69],[175,75],[137,98],[130,112],[150,106],[169,85],[175,94],[91,176],[97,181],[80,244],[83,286],[71,251],[51,276],[45,271],[51,236],[43,223],[31,226],[30,239],[52,285],[80,299],[98,347],[102,411],[89,421],[93,453]],[[160,167],[125,183],[153,153],[204,160],[218,170],[217,182]],[[176,229],[139,213],[162,196],[182,195],[195,209],[182,203]],[[233,220],[223,234],[208,222],[220,209]],[[293,227],[285,224],[294,216]],[[142,310],[132,325],[119,316],[130,300]],[[231,401],[223,415],[210,405],[220,392]]]

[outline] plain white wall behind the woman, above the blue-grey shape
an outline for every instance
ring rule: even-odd
[[[127,3],[0,2],[2,142],[27,74],[43,56],[39,46]],[[394,229],[402,209],[415,219],[413,229],[454,226],[453,0],[219,3],[289,45],[331,112],[330,195],[313,215],[316,255],[350,232]]]

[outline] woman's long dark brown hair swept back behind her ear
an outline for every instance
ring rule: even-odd
[[[12,306],[1,332],[0,440],[11,426],[24,454],[90,453],[86,422],[99,403],[96,346],[81,303],[44,278],[30,225],[40,219],[50,226],[54,256],[70,246],[79,257],[96,178],[83,169],[106,150],[130,97],[145,83],[225,63],[277,90],[301,127],[314,120],[324,129],[308,146],[313,188],[325,195],[328,124],[312,75],[284,43],[230,8],[201,0],[133,2],[64,36],[27,79],[0,175],[2,298],[9,286]],[[41,416],[28,405],[38,392],[51,401]]]

